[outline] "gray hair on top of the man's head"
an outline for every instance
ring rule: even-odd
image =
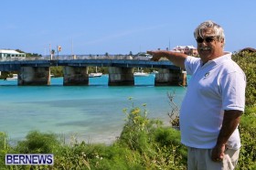
[[[194,37],[195,38],[202,37],[201,35],[202,30],[205,30],[208,28],[211,28],[214,31],[214,34],[215,34],[214,36],[218,37],[218,40],[223,39],[225,41],[223,28],[211,20],[201,23],[194,31]]]

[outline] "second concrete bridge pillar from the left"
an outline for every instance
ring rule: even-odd
[[[63,68],[64,86],[82,86],[89,85],[88,67],[70,67]]]

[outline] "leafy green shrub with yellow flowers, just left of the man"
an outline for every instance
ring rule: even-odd
[[[140,165],[145,169],[186,169],[187,151],[180,143],[179,131],[163,127],[159,120],[149,120],[145,109],[133,107],[124,112],[127,119],[117,143],[140,154]]]

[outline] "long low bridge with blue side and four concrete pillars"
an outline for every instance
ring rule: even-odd
[[[17,71],[17,84],[50,85],[50,67],[63,66],[63,85],[89,85],[90,66],[108,67],[110,86],[134,85],[134,68],[157,68],[155,86],[187,85],[187,75],[170,61],[151,61],[126,58],[26,58],[0,60],[0,71]]]

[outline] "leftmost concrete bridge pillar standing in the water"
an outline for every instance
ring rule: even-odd
[[[50,85],[49,67],[21,67],[18,74],[17,85]]]

